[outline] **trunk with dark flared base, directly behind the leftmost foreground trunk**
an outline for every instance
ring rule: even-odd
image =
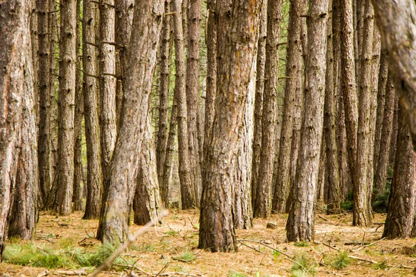
[[[37,168],[37,124],[35,114],[35,91],[33,89],[33,67],[31,48],[26,47],[24,66],[24,84],[21,105],[20,139],[17,147],[20,154],[17,158],[17,175],[15,178],[13,204],[10,208],[8,235],[31,240],[35,231],[37,213],[37,195],[39,186],[39,170]]]

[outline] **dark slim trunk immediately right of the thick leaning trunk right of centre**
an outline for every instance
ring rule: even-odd
[[[335,14],[332,14],[335,16]],[[327,72],[325,73],[324,128],[327,158],[326,190],[327,213],[340,212],[340,179],[336,147],[336,89],[334,87],[335,63],[333,60],[333,18],[327,24]],[[337,66],[338,67],[338,66]]]

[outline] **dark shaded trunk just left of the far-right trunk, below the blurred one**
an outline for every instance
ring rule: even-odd
[[[379,148],[379,161],[376,171],[376,183],[375,188],[378,193],[382,193],[385,190],[385,181],[387,175],[388,166],[388,154],[390,148],[390,140],[392,139],[392,123],[393,115],[395,114],[395,99],[396,93],[393,87],[392,77],[389,75],[387,85],[385,87],[385,105],[383,116],[383,127],[381,131],[381,141]]]

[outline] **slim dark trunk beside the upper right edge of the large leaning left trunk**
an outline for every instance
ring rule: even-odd
[[[165,13],[171,10],[169,1],[165,1]],[[164,163],[166,157],[166,143],[168,143],[168,93],[171,77],[171,17],[163,19],[162,44],[160,45],[159,59],[159,122],[157,128],[157,179],[162,185],[164,181]],[[168,206],[168,188],[160,186],[164,206]]]

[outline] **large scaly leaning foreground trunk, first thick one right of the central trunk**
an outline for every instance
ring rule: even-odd
[[[316,0],[309,8],[308,57],[299,157],[293,199],[286,224],[288,241],[313,240],[315,217],[315,193],[318,181],[318,165],[322,142],[325,92],[325,54],[328,1]]]

